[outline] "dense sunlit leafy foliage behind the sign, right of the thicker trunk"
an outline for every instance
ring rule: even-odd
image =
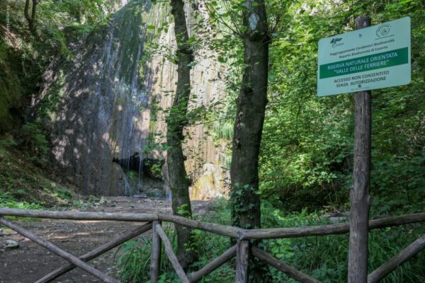
[[[399,0],[329,5],[310,0],[289,8],[270,52],[262,197],[298,211],[346,204],[353,164],[353,95],[317,97],[317,42],[352,30],[359,15],[371,16],[373,23],[410,16],[412,83],[373,91],[371,192],[375,203],[387,203],[376,208],[382,214],[424,207],[424,12],[420,1]],[[278,11],[270,13],[273,18]]]

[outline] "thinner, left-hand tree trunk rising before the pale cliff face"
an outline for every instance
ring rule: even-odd
[[[177,42],[177,88],[173,105],[167,117],[167,165],[172,193],[172,207],[175,215],[192,216],[191,200],[189,199],[189,180],[184,166],[182,143],[183,128],[187,124],[188,100],[191,93],[191,63],[193,50],[188,45],[188,29],[186,14],[182,0],[171,0],[171,12],[174,16],[174,32]],[[191,249],[191,229],[176,225],[177,257],[183,268],[193,262]],[[189,250],[190,249],[190,250]]]

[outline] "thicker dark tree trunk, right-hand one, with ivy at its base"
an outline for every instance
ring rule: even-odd
[[[245,0],[244,76],[237,98],[232,153],[233,225],[245,229],[261,227],[259,152],[267,104],[268,47],[270,37],[264,0]],[[250,282],[261,282],[258,265],[250,264]]]

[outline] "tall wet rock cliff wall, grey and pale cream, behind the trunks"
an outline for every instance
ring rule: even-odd
[[[186,11],[189,21],[193,8]],[[203,13],[205,17],[206,14]],[[169,7],[150,1],[129,1],[110,23],[97,28],[74,49],[71,59],[57,59],[45,74],[33,116],[50,129],[52,156],[69,182],[91,195],[162,197],[167,188],[164,112],[176,82],[176,66],[148,42],[175,48]],[[152,28],[155,27],[155,28]],[[156,33],[156,34],[155,34]],[[193,103],[208,105],[225,95],[217,80],[224,67],[198,50],[193,69]],[[194,179],[193,198],[222,195],[221,153],[205,127],[188,127],[186,167]]]

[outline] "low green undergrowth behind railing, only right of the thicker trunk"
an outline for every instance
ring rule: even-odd
[[[330,224],[322,213],[307,214],[306,210],[288,214],[265,202],[262,207],[263,227],[295,227]],[[402,226],[373,230],[369,233],[369,272],[399,253],[424,233],[424,226]],[[348,235],[311,236],[277,239],[263,243],[266,250],[288,265],[311,275],[320,282],[346,282]],[[425,254],[419,253],[413,260],[397,268],[382,280],[385,283],[424,282],[422,266]],[[273,282],[291,282],[285,275],[271,269]]]

